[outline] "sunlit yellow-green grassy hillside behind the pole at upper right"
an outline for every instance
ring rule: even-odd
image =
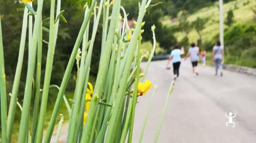
[[[247,23],[251,22],[253,19],[252,8],[256,6],[255,0],[238,0],[224,4],[224,20],[227,15],[227,11],[233,9],[234,20],[236,23]],[[209,18],[209,21],[206,23],[206,28],[202,31],[202,40],[210,41],[216,34],[219,33],[219,4],[216,3],[213,6],[205,7],[203,9],[198,10],[197,12],[190,14],[188,17],[188,21],[192,22],[200,18]],[[170,17],[166,16],[163,18],[162,23],[164,25],[172,26],[170,22]],[[185,36],[184,33],[176,33],[178,41]],[[199,38],[196,31],[191,31],[188,34],[189,42],[196,42]]]

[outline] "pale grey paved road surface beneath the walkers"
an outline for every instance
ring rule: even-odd
[[[158,85],[142,142],[154,142],[160,116],[173,79],[167,61],[152,62],[145,79]],[[143,64],[145,66],[145,64]],[[142,66],[142,67],[143,67]],[[159,143],[255,143],[256,78],[224,70],[214,76],[214,68],[199,65],[199,76],[191,73],[189,60],[182,61],[180,77],[170,95]],[[151,93],[139,97],[133,142],[138,142]],[[235,127],[226,126],[228,112],[237,111]]]

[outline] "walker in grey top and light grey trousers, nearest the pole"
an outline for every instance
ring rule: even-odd
[[[221,46],[221,42],[217,41],[216,45],[212,49],[212,59],[211,62],[215,63],[215,75],[218,75],[218,70],[220,71],[221,76],[223,76],[222,73],[222,60],[224,56],[223,47]]]

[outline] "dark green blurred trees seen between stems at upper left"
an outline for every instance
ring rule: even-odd
[[[42,11],[42,19],[48,18],[50,12],[50,0],[46,0],[44,3],[45,8]],[[33,3],[37,5],[36,1]],[[57,48],[55,50],[54,56],[54,63],[53,63],[53,78],[51,82],[53,84],[60,84],[61,78],[64,74],[66,64],[68,62],[70,53],[73,49],[73,45],[75,43],[77,34],[79,32],[79,28],[81,26],[83,16],[84,16],[84,9],[83,4],[84,1],[65,1],[65,3],[61,4],[61,7],[65,12],[63,15],[67,19],[68,23],[60,22],[59,33],[58,33],[58,40],[57,40]],[[36,6],[34,6],[36,7]],[[8,80],[8,91],[11,90],[15,69],[16,69],[16,60],[18,57],[18,50],[19,50],[19,40],[20,34],[22,31],[22,17],[24,11],[24,5],[21,4],[19,1],[0,1],[0,12],[2,15],[2,28],[3,28],[3,43],[4,43],[4,52],[5,58],[8,60],[5,61],[6,65],[6,75]],[[49,28],[49,21],[44,22],[44,26]],[[99,26],[99,31],[101,26]],[[90,32],[91,33],[91,32]],[[48,33],[44,32],[43,39],[45,41],[49,41],[46,39],[48,37]],[[97,75],[98,70],[98,63],[99,63],[99,54],[100,54],[100,45],[101,45],[101,36],[96,37],[95,48],[93,53],[93,65],[92,65],[92,77]],[[47,44],[42,45],[42,52],[47,52]],[[28,49],[25,49],[25,53],[28,53]],[[45,54],[44,54],[45,55]],[[97,56],[96,56],[97,55]],[[27,54],[25,54],[24,63],[27,63]],[[42,69],[45,69],[45,62],[46,56],[42,56]],[[26,74],[27,65],[24,64],[22,74]],[[74,67],[74,70],[76,67]],[[75,75],[75,72],[73,73]],[[42,71],[42,75],[44,75],[44,71]],[[20,83],[20,88],[24,88],[24,81],[25,76],[22,76],[22,82]],[[72,88],[72,85],[75,85],[75,77],[70,80],[73,84],[69,88]],[[22,96],[23,93],[20,93]]]

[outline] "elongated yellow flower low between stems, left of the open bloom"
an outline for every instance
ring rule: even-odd
[[[93,96],[92,83],[88,82],[88,86],[89,86],[89,88],[86,89],[86,109],[84,110],[84,113],[83,113],[83,125],[86,124],[86,119],[88,116],[88,111],[90,109],[91,100],[92,100],[92,96]]]

